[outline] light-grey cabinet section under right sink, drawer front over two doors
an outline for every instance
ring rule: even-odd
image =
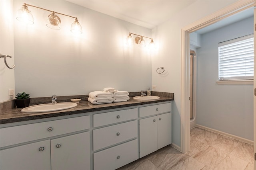
[[[139,110],[142,117],[139,120],[142,158],[172,143],[172,115],[170,103],[140,107]]]

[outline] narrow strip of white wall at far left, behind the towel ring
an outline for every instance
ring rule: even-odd
[[[10,55],[6,61],[10,67],[14,64],[14,38],[12,22],[12,0],[1,0],[0,2],[0,53]],[[15,68],[14,68],[15,69]],[[0,102],[11,100],[9,89],[15,89],[14,69],[9,69],[4,64],[4,58],[0,59]]]

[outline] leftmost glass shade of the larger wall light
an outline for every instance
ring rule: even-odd
[[[23,5],[16,14],[16,19],[18,21],[28,23],[28,24],[34,24],[34,18],[31,14],[31,12],[28,10],[28,7],[26,5]]]

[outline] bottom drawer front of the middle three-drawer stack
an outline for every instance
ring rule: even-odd
[[[138,140],[93,154],[94,170],[114,170],[138,159]]]

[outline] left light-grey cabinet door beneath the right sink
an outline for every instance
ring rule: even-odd
[[[140,119],[140,158],[157,150],[157,116]]]

